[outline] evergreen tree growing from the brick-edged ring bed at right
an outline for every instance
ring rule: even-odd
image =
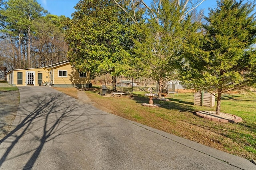
[[[251,15],[254,2],[220,0],[217,4],[206,18],[204,34],[188,38],[182,75],[187,87],[217,97],[216,114],[220,114],[223,93],[256,83],[256,20]]]

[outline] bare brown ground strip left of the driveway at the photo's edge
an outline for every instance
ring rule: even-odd
[[[20,103],[20,93],[16,91],[0,92],[0,140],[12,127]]]

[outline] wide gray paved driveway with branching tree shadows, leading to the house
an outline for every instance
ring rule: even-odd
[[[45,86],[19,87],[1,170],[256,169],[252,162],[101,111]]]

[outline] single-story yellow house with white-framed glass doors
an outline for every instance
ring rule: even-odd
[[[12,86],[54,86],[54,87],[89,87],[90,72],[78,72],[69,61],[39,68],[10,70],[7,81]]]

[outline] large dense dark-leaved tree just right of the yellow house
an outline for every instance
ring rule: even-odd
[[[126,69],[128,46],[124,39],[127,25],[120,9],[111,0],[80,1],[66,31],[68,58],[77,70],[116,76]]]

